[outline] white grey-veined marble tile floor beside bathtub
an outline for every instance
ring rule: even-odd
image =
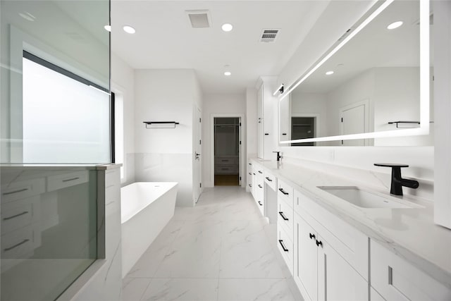
[[[240,187],[207,188],[123,279],[123,301],[302,300],[276,247],[276,225]]]

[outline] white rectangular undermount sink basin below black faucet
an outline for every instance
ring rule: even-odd
[[[361,208],[422,208],[403,199],[369,192],[355,186],[318,186],[318,188]]]

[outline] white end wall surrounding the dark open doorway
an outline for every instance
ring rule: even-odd
[[[255,107],[257,111],[257,103]],[[214,177],[211,175],[211,131],[213,125],[211,124],[212,114],[245,114],[246,113],[246,95],[243,94],[205,94],[204,95],[204,108],[202,111],[202,186],[213,187]],[[237,115],[237,117],[239,117]],[[245,133],[246,133],[246,121],[242,123],[242,156],[245,156]],[[242,183],[245,183],[245,175],[242,175]]]

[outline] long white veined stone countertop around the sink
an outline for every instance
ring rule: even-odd
[[[387,197],[389,190],[364,185],[359,180],[341,178],[326,172],[284,161],[252,159],[278,178],[304,193],[317,204],[350,223],[371,240],[379,242],[407,262],[451,288],[451,230],[433,222],[433,202],[404,195],[401,201],[421,208],[362,208],[354,206],[318,186],[357,186]],[[356,171],[356,179],[359,173]]]

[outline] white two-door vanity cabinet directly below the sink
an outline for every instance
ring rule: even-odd
[[[342,232],[348,226],[342,221],[329,231],[321,222],[333,219],[333,214],[322,212],[301,192],[294,193],[293,276],[304,299],[369,300],[368,238],[353,228]],[[355,239],[349,240],[349,235]]]

